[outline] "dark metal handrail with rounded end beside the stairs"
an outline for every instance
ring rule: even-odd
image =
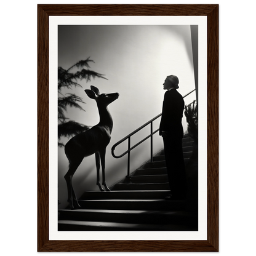
[[[196,89],[194,89],[196,90]],[[190,95],[192,92],[194,92],[194,90],[191,90],[191,92],[188,92],[188,94],[184,95],[183,98],[185,98],[186,96]],[[127,162],[127,176],[130,175],[130,151],[132,151],[134,148],[136,148],[138,145],[140,145],[142,142],[145,142],[145,140],[147,140],[148,138],[151,138],[151,143],[150,143],[150,156],[151,156],[151,162],[153,162],[153,135],[156,134],[156,132],[159,131],[159,129],[156,129],[153,132],[153,121],[155,121],[156,119],[158,119],[160,116],[162,115],[162,113],[158,114],[157,116],[155,116],[153,119],[151,119],[150,121],[146,122],[145,124],[143,124],[143,126],[138,127],[138,129],[134,130],[134,132],[131,132],[129,135],[127,135],[126,137],[122,138],[121,140],[119,140],[119,142],[115,143],[112,148],[111,148],[111,154],[114,158],[122,158],[122,156],[128,154],[128,162]],[[137,144],[135,144],[134,146],[130,147],[130,137],[132,137],[132,135],[136,134],[139,130],[142,130],[144,127],[148,126],[148,124],[150,124],[150,135],[146,136],[145,138],[143,138],[143,140],[141,140],[140,142],[138,142]],[[125,140],[128,139],[128,150],[125,151],[124,153],[120,154],[119,156],[116,156],[114,154],[114,150],[116,149],[116,146],[118,146],[119,144],[121,144],[122,142],[124,142]]]

